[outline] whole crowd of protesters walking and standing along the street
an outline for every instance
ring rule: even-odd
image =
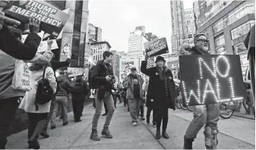
[[[144,118],[144,104],[147,106],[146,122],[150,123],[150,113],[153,111],[153,127],[156,127],[156,139],[161,135],[169,139],[166,133],[169,119],[169,108],[175,111],[175,82],[172,71],[166,67],[166,61],[162,56],[156,57],[156,66],[147,68],[148,56],[141,63],[141,72],[149,77],[145,80],[139,75],[136,67],[131,67],[131,73],[115,87],[115,76],[112,71],[112,52],[103,52],[103,60],[97,62],[90,70],[88,82],[82,77],[77,77],[70,82],[63,71],[56,77],[56,70],[68,66],[71,55],[66,61],[52,61],[54,57],[51,47],[46,52],[36,53],[41,38],[37,35],[40,31],[40,21],[34,18],[29,21],[30,34],[24,43],[21,42],[22,31],[15,27],[8,27],[0,21],[0,148],[4,149],[7,143],[6,133],[11,120],[14,120],[17,108],[24,109],[28,115],[28,148],[39,149],[38,137],[49,137],[47,133],[48,123],[52,130],[56,128],[55,120],[58,106],[62,108],[63,126],[68,125],[68,93],[72,94],[74,122],[81,122],[84,109],[85,96],[91,93],[94,98],[95,114],[92,120],[92,132],[90,139],[99,141],[97,127],[105,107],[106,121],[101,134],[106,138],[113,138],[109,131],[109,124],[114,114],[116,103],[124,102],[131,115],[131,125],[137,126],[137,120]],[[207,55],[209,46],[207,36],[199,34],[194,37],[194,47],[183,55]],[[15,89],[12,86],[17,60],[30,63],[29,91]],[[43,87],[51,89],[52,95],[49,101],[40,104],[36,96],[39,83],[46,79]],[[48,90],[43,91],[48,94]],[[91,98],[92,98],[91,97]],[[18,100],[22,98],[21,105]],[[184,148],[192,148],[192,142],[199,130],[205,125],[206,148],[216,148],[217,123],[219,118],[218,105],[194,106],[194,120],[191,121],[184,136]],[[162,134],[161,134],[162,127]]]

